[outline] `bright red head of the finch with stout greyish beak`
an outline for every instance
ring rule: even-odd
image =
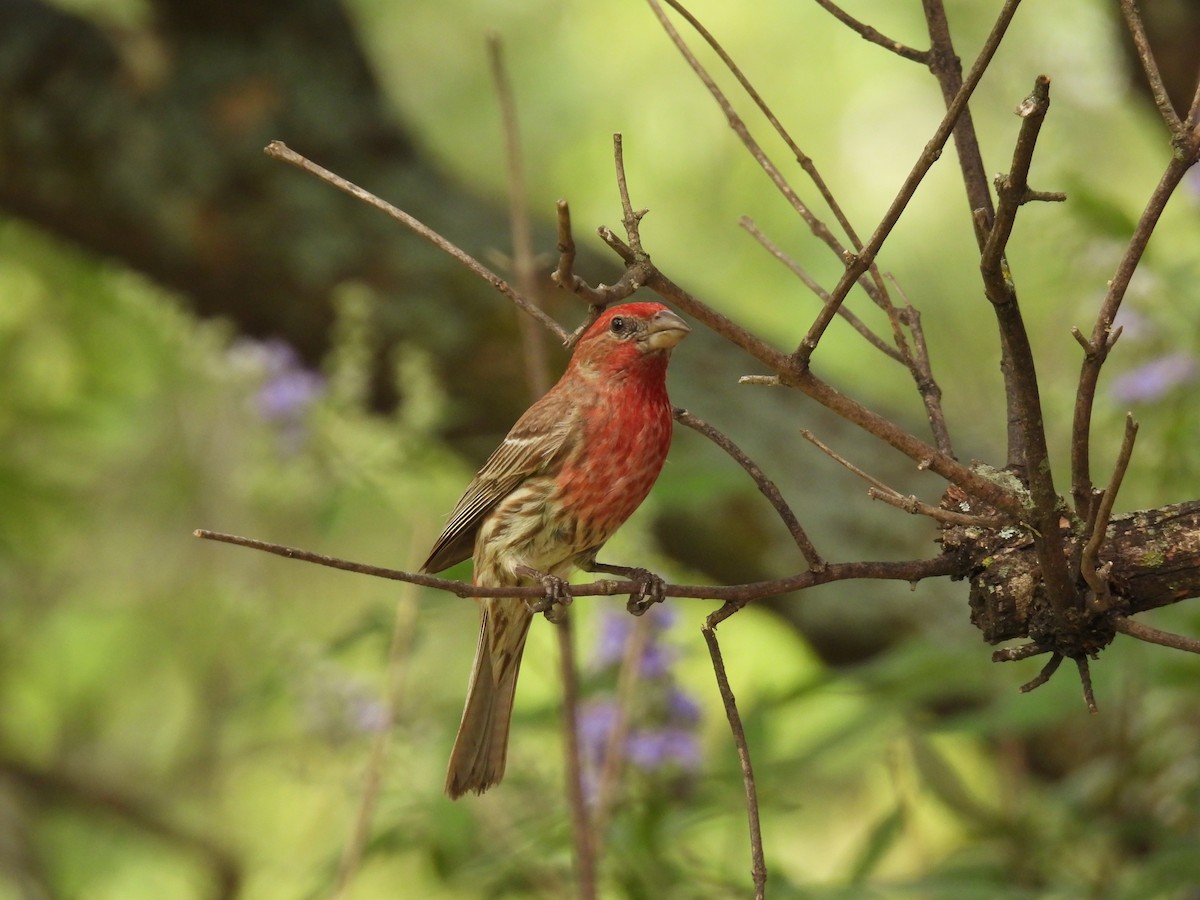
[[[653,368],[666,366],[671,349],[691,331],[662,304],[623,304],[606,310],[575,346],[572,366]]]

